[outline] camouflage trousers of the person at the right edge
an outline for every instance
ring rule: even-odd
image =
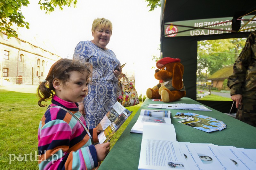
[[[236,112],[236,119],[256,127],[256,100],[243,97]]]

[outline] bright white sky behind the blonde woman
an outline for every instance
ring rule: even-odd
[[[56,54],[72,58],[79,41],[92,40],[92,22],[107,18],[112,22],[113,33],[107,48],[111,49],[123,67],[133,72],[138,94],[155,86],[156,62],[152,55],[160,56],[160,8],[149,12],[144,0],[77,0],[76,8],[58,8],[45,14],[38,0],[31,0],[21,9],[30,29],[20,28],[22,36],[32,36],[54,47]],[[49,50],[50,51],[50,50]]]

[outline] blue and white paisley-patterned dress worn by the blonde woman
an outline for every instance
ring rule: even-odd
[[[112,50],[104,50],[91,41],[80,41],[74,59],[92,64],[92,82],[84,97],[86,125],[95,128],[117,101],[118,79],[113,70],[120,66]]]

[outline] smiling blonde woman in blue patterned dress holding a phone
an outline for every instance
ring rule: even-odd
[[[80,41],[74,59],[92,64],[92,82],[89,93],[79,110],[84,114],[89,129],[96,127],[117,101],[117,82],[122,78],[122,68],[115,53],[106,46],[112,35],[112,23],[96,18],[92,23],[91,41]]]

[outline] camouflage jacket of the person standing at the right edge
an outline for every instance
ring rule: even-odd
[[[233,74],[228,78],[230,95],[256,99],[256,30],[246,40],[244,49],[233,66]]]

